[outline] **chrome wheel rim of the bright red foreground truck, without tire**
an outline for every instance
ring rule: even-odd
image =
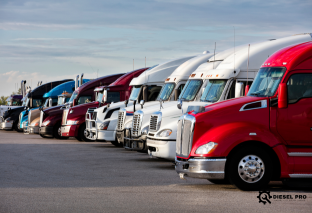
[[[261,180],[264,171],[264,163],[256,155],[247,155],[238,164],[238,175],[247,183],[256,183]]]

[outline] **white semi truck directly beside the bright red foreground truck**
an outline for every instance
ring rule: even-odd
[[[233,93],[235,93],[235,97],[242,95],[240,84],[245,84],[247,78],[250,82],[270,55],[287,46],[307,41],[311,41],[310,35],[295,35],[253,44],[250,49],[246,45],[246,48],[227,57],[215,69],[205,73],[205,78],[207,78],[203,87],[205,89],[201,96],[196,97],[196,102],[183,102],[183,104],[180,102],[179,107],[182,105],[184,113],[192,110],[201,111],[203,108],[200,109],[200,106],[232,98],[234,97]],[[203,68],[204,66],[199,67],[199,70]],[[197,81],[200,82],[201,79],[197,77],[199,73],[197,72],[193,79],[197,78]],[[191,95],[188,95],[186,89],[182,92],[180,100],[190,100],[190,97]],[[147,136],[150,155],[170,160],[175,159],[176,139],[182,137],[177,135],[177,122],[181,115],[181,110],[178,107],[171,107],[150,116],[150,128]]]

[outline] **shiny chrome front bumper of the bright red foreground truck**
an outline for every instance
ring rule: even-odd
[[[175,170],[180,178],[224,179],[225,162],[226,158],[176,160]]]

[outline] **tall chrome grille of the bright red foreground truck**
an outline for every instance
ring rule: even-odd
[[[192,115],[184,115],[179,119],[176,142],[177,156],[189,156],[192,149],[194,126],[195,117]]]

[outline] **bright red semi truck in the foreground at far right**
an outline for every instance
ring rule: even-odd
[[[191,108],[180,118],[176,171],[242,190],[312,178],[312,42],[284,48],[248,95]]]

